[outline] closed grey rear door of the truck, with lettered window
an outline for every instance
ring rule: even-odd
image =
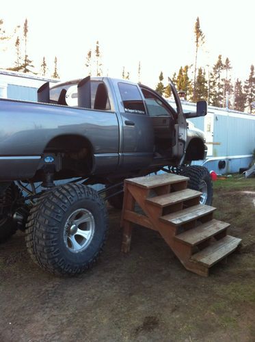
[[[117,85],[116,85],[117,86]],[[121,169],[146,168],[152,163],[154,132],[142,94],[136,84],[118,82],[122,118]]]

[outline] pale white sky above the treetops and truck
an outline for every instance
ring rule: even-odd
[[[232,79],[247,79],[255,64],[255,1],[253,0],[2,0],[0,18],[12,32],[27,18],[27,54],[40,70],[46,57],[49,73],[58,60],[61,79],[87,76],[85,57],[96,40],[102,54],[103,73],[122,76],[122,68],[137,81],[155,88],[159,73],[167,77],[195,59],[194,25],[200,18],[205,44],[198,66],[206,72],[218,55],[232,64]],[[16,36],[0,49],[0,67],[13,66]],[[5,51],[3,51],[3,49]]]

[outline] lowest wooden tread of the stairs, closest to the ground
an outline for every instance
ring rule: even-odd
[[[241,239],[227,235],[211,246],[204,248],[204,250],[193,254],[191,261],[202,263],[206,267],[211,267],[232,253],[240,243]]]

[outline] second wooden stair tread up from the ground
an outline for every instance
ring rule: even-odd
[[[196,246],[210,237],[226,231],[229,226],[229,223],[213,219],[204,224],[200,224],[200,226],[196,228],[191,228],[185,233],[176,235],[175,239],[182,241],[184,244],[189,246]]]

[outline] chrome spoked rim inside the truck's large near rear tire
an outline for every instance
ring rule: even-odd
[[[71,213],[64,226],[66,248],[73,253],[83,252],[92,241],[95,232],[94,216],[87,209],[77,209]]]

